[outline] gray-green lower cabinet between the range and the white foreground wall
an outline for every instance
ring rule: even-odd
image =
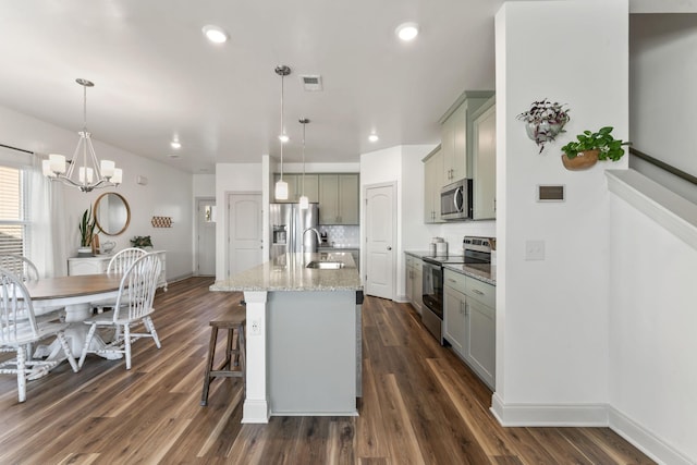
[[[479,378],[494,389],[496,287],[445,269],[443,298],[444,339]]]

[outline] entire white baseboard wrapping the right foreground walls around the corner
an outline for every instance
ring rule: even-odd
[[[505,404],[494,393],[491,413],[504,427],[609,427],[660,464],[697,463],[608,404]]]

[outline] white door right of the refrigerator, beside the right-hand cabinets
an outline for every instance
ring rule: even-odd
[[[393,298],[396,234],[394,184],[366,187],[366,294]]]

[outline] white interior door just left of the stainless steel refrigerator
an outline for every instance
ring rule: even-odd
[[[261,194],[228,196],[229,254],[228,276],[239,273],[262,261]]]

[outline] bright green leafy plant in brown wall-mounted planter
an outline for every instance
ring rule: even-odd
[[[584,131],[562,147],[562,163],[567,170],[585,170],[596,164],[598,160],[617,161],[624,156],[623,145],[628,142],[615,139],[612,126],[604,126],[598,132]]]

